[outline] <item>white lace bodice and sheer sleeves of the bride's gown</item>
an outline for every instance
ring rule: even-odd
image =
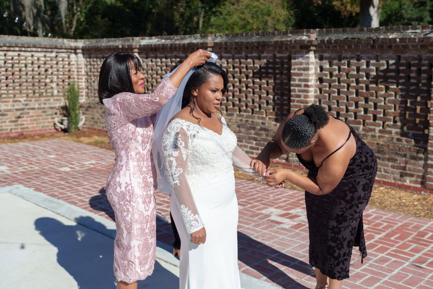
[[[223,130],[218,134],[176,118],[162,138],[165,171],[189,234],[204,227],[194,195],[202,193],[210,180],[233,172],[233,166],[261,179],[249,166],[251,159],[236,146],[236,135],[223,117],[221,122]]]

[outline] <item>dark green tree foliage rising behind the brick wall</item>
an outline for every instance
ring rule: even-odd
[[[0,34],[48,36],[51,32],[58,37],[92,39],[359,27],[360,2],[0,0]],[[433,0],[380,0],[380,26],[432,24],[432,3]],[[3,17],[5,11],[9,14]],[[20,21],[15,22],[16,16]]]

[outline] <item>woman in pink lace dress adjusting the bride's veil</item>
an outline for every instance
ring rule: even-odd
[[[210,57],[205,50],[191,53],[178,70],[151,94],[144,94],[142,65],[136,55],[113,53],[104,60],[98,83],[106,106],[105,128],[116,153],[107,180],[107,198],[116,217],[114,275],[117,288],[137,288],[137,280],[152,274],[155,263],[156,170],[150,141],[150,115],[176,92],[187,72]]]

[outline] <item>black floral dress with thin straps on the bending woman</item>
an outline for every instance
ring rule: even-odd
[[[356,141],[356,153],[350,160],[343,179],[329,194],[313,195],[305,192],[310,265],[337,280],[349,278],[354,246],[359,247],[361,263],[367,256],[362,212],[370,199],[377,172],[377,161],[372,149],[352,127],[348,127],[350,133],[347,140],[352,134]],[[341,147],[343,146],[338,149]],[[300,155],[297,158],[309,170],[308,176],[317,176],[320,167],[315,166],[314,162],[305,161]]]

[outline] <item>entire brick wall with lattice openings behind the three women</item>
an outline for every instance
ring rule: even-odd
[[[198,48],[229,74],[221,110],[250,156],[290,111],[320,104],[357,130],[378,157],[378,180],[433,189],[431,26],[310,29],[224,35],[67,40],[0,36],[0,137],[52,130],[75,80],[85,126],[103,129],[99,69],[110,53],[142,59],[147,92]],[[433,132],[433,131],[432,131]],[[289,155],[275,162],[301,168]]]

